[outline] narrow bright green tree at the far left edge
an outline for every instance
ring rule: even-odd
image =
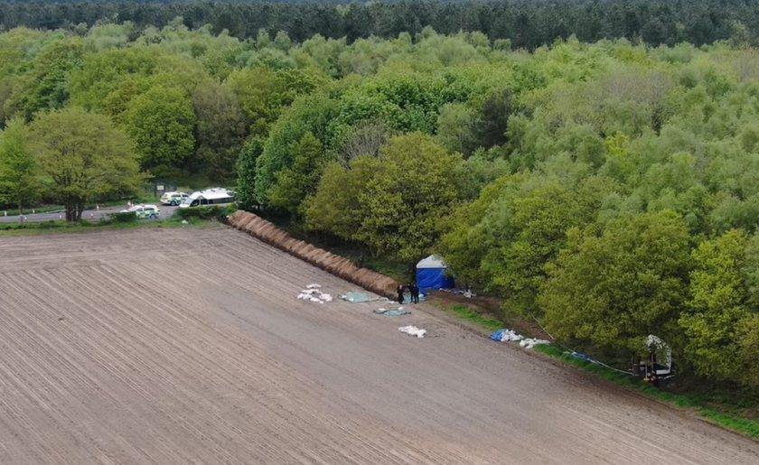
[[[14,117],[0,132],[0,202],[18,206],[32,205],[40,197],[41,184],[29,146],[29,128]]]

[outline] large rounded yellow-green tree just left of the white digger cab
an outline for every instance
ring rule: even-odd
[[[539,304],[557,339],[641,353],[645,338],[672,340],[688,299],[689,233],[671,211],[645,213],[569,232]]]

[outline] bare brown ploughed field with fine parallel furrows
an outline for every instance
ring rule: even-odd
[[[759,463],[229,228],[0,238],[0,463]],[[428,338],[402,334],[416,324]]]

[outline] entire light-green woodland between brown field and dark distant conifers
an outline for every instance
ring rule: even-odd
[[[624,359],[656,334],[680,373],[755,392],[752,40],[14,27],[0,203],[76,220],[151,176],[231,180],[242,207],[370,256],[440,254],[563,343]]]

